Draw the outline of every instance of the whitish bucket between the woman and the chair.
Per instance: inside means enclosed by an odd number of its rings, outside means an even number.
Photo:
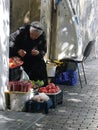
[[[47,64],[47,75],[48,77],[55,77],[56,65],[55,64]]]

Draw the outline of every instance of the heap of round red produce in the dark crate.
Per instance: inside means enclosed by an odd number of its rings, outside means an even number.
[[[41,87],[38,90],[39,92],[44,93],[57,93],[60,91],[59,86],[55,85],[54,83],[49,83],[46,87]]]

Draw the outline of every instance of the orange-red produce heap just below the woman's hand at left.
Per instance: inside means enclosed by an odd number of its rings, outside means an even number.
[[[9,58],[9,68],[10,69],[21,66],[22,64],[23,64],[23,61],[19,57]]]

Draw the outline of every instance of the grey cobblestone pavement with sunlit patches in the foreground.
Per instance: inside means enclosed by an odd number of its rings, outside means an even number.
[[[42,113],[0,112],[0,130],[98,130],[98,59],[85,64],[88,84],[60,86],[63,103]]]

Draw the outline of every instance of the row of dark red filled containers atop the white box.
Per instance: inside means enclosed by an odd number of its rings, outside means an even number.
[[[9,91],[19,91],[19,92],[28,92],[32,88],[31,81],[10,81],[9,82]]]

